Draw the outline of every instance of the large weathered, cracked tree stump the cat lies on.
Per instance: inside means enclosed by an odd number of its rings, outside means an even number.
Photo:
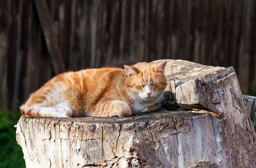
[[[26,166],[255,167],[256,134],[234,68],[167,61],[165,103],[183,109],[120,118],[21,117],[16,139]]]

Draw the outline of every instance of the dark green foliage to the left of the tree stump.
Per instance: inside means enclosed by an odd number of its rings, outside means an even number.
[[[13,115],[8,110],[0,111],[0,168],[25,167],[22,149],[16,142],[16,128],[21,114]]]

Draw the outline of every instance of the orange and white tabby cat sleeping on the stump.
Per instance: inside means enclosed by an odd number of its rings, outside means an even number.
[[[160,108],[166,61],[59,74],[22,105],[25,117],[129,116]]]

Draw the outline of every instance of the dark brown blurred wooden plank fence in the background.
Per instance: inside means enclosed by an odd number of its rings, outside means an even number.
[[[233,66],[243,94],[256,83],[255,0],[36,2],[0,1],[0,109],[17,110],[54,67],[185,59]]]

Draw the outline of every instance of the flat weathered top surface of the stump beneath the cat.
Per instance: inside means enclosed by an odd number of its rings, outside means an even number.
[[[25,120],[29,119],[43,119],[43,120],[52,120],[55,122],[85,122],[85,123],[106,123],[106,124],[115,124],[115,123],[134,123],[134,122],[143,122],[147,120],[161,120],[161,119],[172,119],[172,118],[183,118],[191,119],[192,116],[199,115],[208,115],[203,113],[193,113],[189,111],[155,111],[150,113],[140,113],[133,114],[132,116],[126,117],[95,117],[95,116],[83,116],[83,117],[74,117],[74,118],[24,118]]]

